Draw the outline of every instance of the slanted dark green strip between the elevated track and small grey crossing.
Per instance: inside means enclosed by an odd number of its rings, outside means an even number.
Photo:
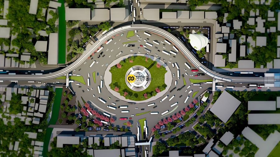
[[[62,95],[62,88],[55,88],[54,105],[52,109],[52,117],[49,120],[49,124],[55,124],[58,119],[61,95]]]

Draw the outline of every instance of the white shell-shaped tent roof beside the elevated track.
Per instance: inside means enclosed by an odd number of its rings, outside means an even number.
[[[189,34],[190,44],[195,50],[199,51],[209,42],[209,39],[203,34]]]

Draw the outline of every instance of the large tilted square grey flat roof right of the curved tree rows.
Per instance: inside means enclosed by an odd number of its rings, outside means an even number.
[[[241,102],[230,93],[223,91],[210,111],[226,123],[240,103]]]

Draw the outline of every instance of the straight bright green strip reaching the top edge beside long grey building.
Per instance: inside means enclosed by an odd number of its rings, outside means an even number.
[[[66,58],[66,21],[64,0],[58,0],[61,7],[58,7],[58,64],[65,64]]]

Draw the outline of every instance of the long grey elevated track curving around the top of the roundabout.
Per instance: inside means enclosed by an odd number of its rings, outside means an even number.
[[[212,78],[216,78],[219,80],[227,81],[227,82],[235,82],[235,83],[274,83],[276,81],[274,77],[232,77],[232,76],[226,76],[223,74],[216,73],[207,67],[205,67],[203,64],[201,64],[196,57],[193,55],[192,52],[190,52],[187,47],[183,43],[180,42],[179,39],[177,39],[174,35],[168,33],[167,31],[154,27],[151,25],[128,25],[123,26],[114,30],[111,30],[104,34],[99,40],[96,41],[90,48],[86,49],[83,54],[74,61],[71,65],[65,67],[62,70],[58,70],[51,74],[43,74],[43,75],[0,75],[0,80],[29,80],[29,81],[36,81],[36,80],[47,80],[47,79],[53,79],[57,78],[59,76],[62,76],[64,74],[67,74],[74,69],[76,69],[80,64],[83,64],[84,61],[90,56],[93,52],[95,52],[97,49],[99,49],[101,46],[104,45],[104,42],[111,39],[113,36],[120,34],[124,31],[129,30],[144,30],[149,31],[153,34],[162,36],[163,38],[166,38],[168,41],[170,41],[173,45],[175,45],[180,52],[184,54],[187,60],[196,67],[197,69],[203,71],[203,73],[211,76]],[[142,34],[141,34],[142,35]],[[142,36],[145,36],[144,34]]]

